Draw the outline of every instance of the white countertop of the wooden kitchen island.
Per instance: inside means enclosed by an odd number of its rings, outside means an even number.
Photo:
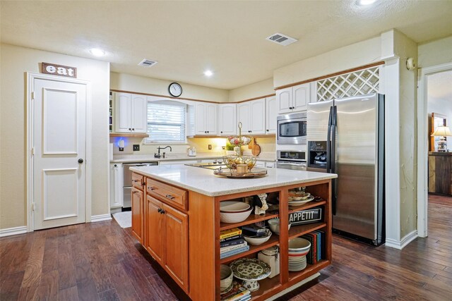
[[[285,185],[308,183],[316,180],[337,178],[334,173],[314,171],[293,171],[290,169],[268,168],[267,175],[261,178],[223,178],[215,176],[212,169],[185,166],[182,164],[142,166],[130,168],[164,183],[186,188],[202,195],[217,197],[233,193],[276,188]]]

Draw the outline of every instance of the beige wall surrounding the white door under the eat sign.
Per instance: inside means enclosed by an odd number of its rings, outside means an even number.
[[[1,44],[0,229],[26,225],[25,72],[40,73],[42,61],[77,68],[91,82],[93,113],[92,215],[108,214],[109,63]]]

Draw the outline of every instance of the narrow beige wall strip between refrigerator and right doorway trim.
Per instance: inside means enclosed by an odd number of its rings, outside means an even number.
[[[409,57],[417,61],[417,44],[394,31],[394,54],[400,57],[400,238],[404,238],[417,228],[417,73],[405,66]]]

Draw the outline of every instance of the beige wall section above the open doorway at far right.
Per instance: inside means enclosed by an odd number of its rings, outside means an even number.
[[[442,63],[452,62],[452,35],[444,39],[420,44],[419,52],[419,68],[440,65]]]

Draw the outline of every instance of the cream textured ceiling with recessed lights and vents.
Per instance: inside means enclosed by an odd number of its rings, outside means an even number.
[[[111,70],[233,89],[273,70],[396,28],[415,42],[452,35],[452,1],[4,1],[1,42],[93,58]],[[266,41],[281,32],[299,39]],[[142,59],[158,61],[152,68]],[[215,75],[206,78],[203,70]]]

